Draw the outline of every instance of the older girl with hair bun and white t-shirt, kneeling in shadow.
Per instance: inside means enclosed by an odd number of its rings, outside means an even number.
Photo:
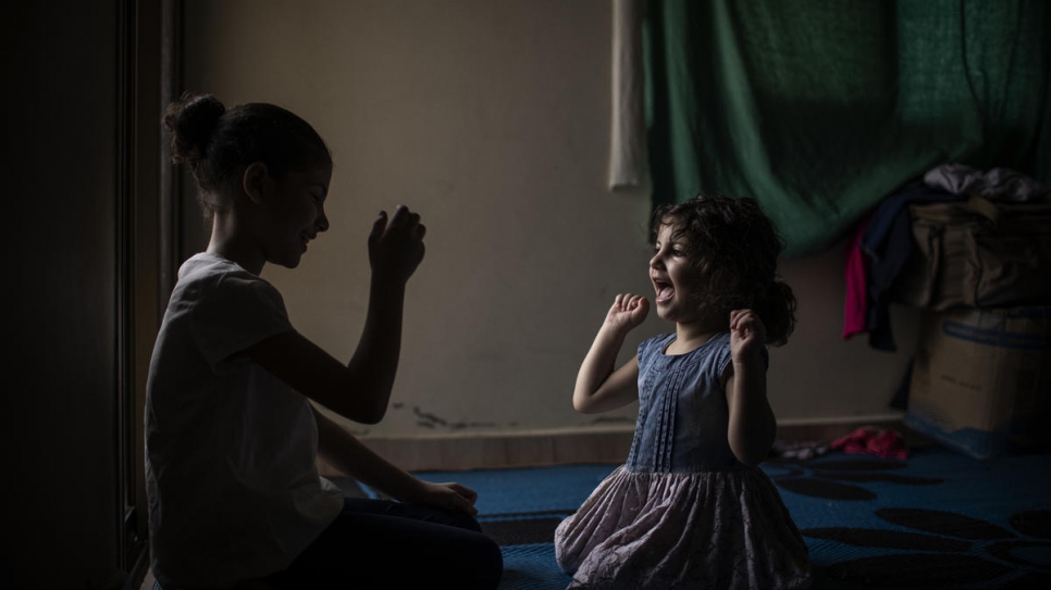
[[[499,548],[475,494],[421,481],[311,402],[374,424],[386,412],[406,281],[424,226],[398,206],[372,225],[369,309],[344,364],[292,327],[267,263],[294,268],[319,233],[332,159],[272,104],[184,97],[164,118],[211,218],[178,271],[147,384],[146,478],[153,575],[165,590],[495,588]],[[344,498],[318,453],[399,502]]]

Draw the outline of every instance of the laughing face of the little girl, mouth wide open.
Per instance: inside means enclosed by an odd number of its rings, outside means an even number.
[[[654,242],[654,255],[650,260],[650,280],[656,291],[654,301],[657,315],[677,323],[701,318],[701,288],[696,261],[691,259],[690,243],[684,236],[677,236],[675,223],[663,224]]]

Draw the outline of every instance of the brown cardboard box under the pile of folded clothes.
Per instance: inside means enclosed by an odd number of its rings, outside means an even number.
[[[1051,306],[924,310],[905,424],[975,459],[1047,450]]]

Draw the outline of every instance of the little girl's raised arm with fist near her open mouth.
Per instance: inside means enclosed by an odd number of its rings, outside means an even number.
[[[625,337],[642,324],[648,311],[650,304],[644,297],[630,293],[617,296],[577,373],[573,407],[578,412],[606,412],[639,399],[638,356],[632,356],[616,371],[614,364]]]

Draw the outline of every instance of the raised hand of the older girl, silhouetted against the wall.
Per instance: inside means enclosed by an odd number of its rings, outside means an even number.
[[[398,205],[387,219],[385,211],[372,224],[369,234],[369,264],[373,274],[405,283],[423,261],[423,236],[426,227],[420,215]]]

